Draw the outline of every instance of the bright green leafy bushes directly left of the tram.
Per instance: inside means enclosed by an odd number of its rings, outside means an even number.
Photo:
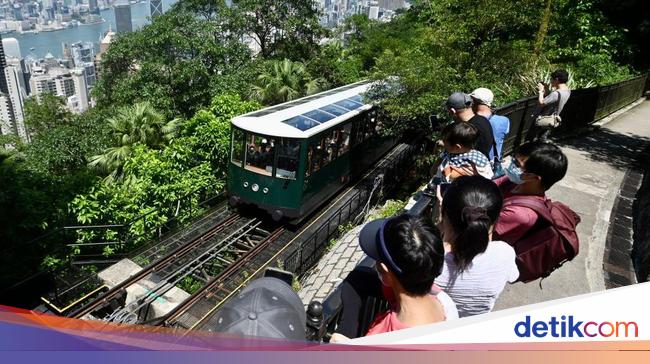
[[[70,209],[77,222],[133,222],[128,226],[128,243],[105,251],[110,255],[129,251],[147,241],[151,236],[146,232],[154,231],[173,217],[180,221],[190,218],[190,211],[196,214],[201,202],[198,195],[179,199],[197,190],[221,191],[230,145],[230,120],[257,108],[259,104],[242,101],[238,96],[220,95],[208,109],[200,110],[188,120],[180,135],[163,148],[133,144],[124,161],[123,181],[97,181],[89,192],[79,194],[71,202]],[[79,240],[115,239],[116,232],[104,234],[112,235],[82,233]]]

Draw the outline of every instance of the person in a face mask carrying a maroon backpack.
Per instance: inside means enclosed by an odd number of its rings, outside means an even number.
[[[529,207],[508,204],[514,197],[544,202],[545,192],[566,175],[568,160],[562,150],[551,143],[529,142],[514,153],[506,175],[494,180],[503,193],[504,205],[494,228],[495,236],[514,244],[535,224],[538,215]]]

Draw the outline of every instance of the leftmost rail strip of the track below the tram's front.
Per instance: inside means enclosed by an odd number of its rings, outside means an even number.
[[[123,298],[123,296],[126,295],[126,290],[128,287],[131,287],[138,282],[144,281],[145,279],[154,278],[152,277],[154,274],[157,275],[158,279],[155,280],[159,281],[159,283],[162,283],[163,281],[175,281],[178,279],[176,273],[183,270],[183,268],[187,268],[188,265],[196,263],[196,260],[203,256],[205,253],[210,254],[209,252],[213,250],[216,245],[214,244],[213,238],[218,237],[219,234],[223,236],[225,233],[228,236],[228,234],[233,234],[236,231],[245,229],[246,226],[249,226],[251,223],[253,223],[253,221],[255,221],[255,223],[259,223],[254,219],[245,219],[240,215],[233,213],[229,214],[228,217],[214,224],[212,227],[189,241],[186,240],[183,242],[181,239],[173,240],[175,243],[172,243],[173,245],[169,246],[166,254],[157,258],[155,261],[125,281],[119,283],[108,292],[102,294],[83,307],[72,311],[68,316],[73,318],[83,318],[91,313],[95,313],[94,316],[96,316],[96,311],[99,309],[105,308],[106,306],[115,306],[115,300]],[[147,253],[145,253],[145,255],[146,254]],[[155,258],[156,253],[149,252],[148,255],[150,255],[152,258]],[[190,269],[189,274],[193,273],[193,271],[194,270]],[[162,287],[158,287],[158,285],[156,285],[155,288],[156,291],[153,294],[148,294],[146,297],[156,297],[157,293],[160,293],[162,290],[164,290]],[[171,287],[165,288],[171,289]],[[109,311],[111,311],[111,309],[109,309]],[[107,317],[102,317],[102,315],[99,314],[100,317],[96,318],[107,319],[112,314],[113,312],[110,312]],[[125,316],[122,315],[120,317],[124,319]],[[132,315],[129,315],[129,317],[129,319],[132,319]]]

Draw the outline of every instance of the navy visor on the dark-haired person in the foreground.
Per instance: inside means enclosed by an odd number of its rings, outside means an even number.
[[[377,262],[388,266],[391,272],[400,275],[402,268],[393,260],[388,247],[386,246],[385,230],[392,223],[394,218],[378,219],[367,223],[359,233],[359,245],[366,255]]]

